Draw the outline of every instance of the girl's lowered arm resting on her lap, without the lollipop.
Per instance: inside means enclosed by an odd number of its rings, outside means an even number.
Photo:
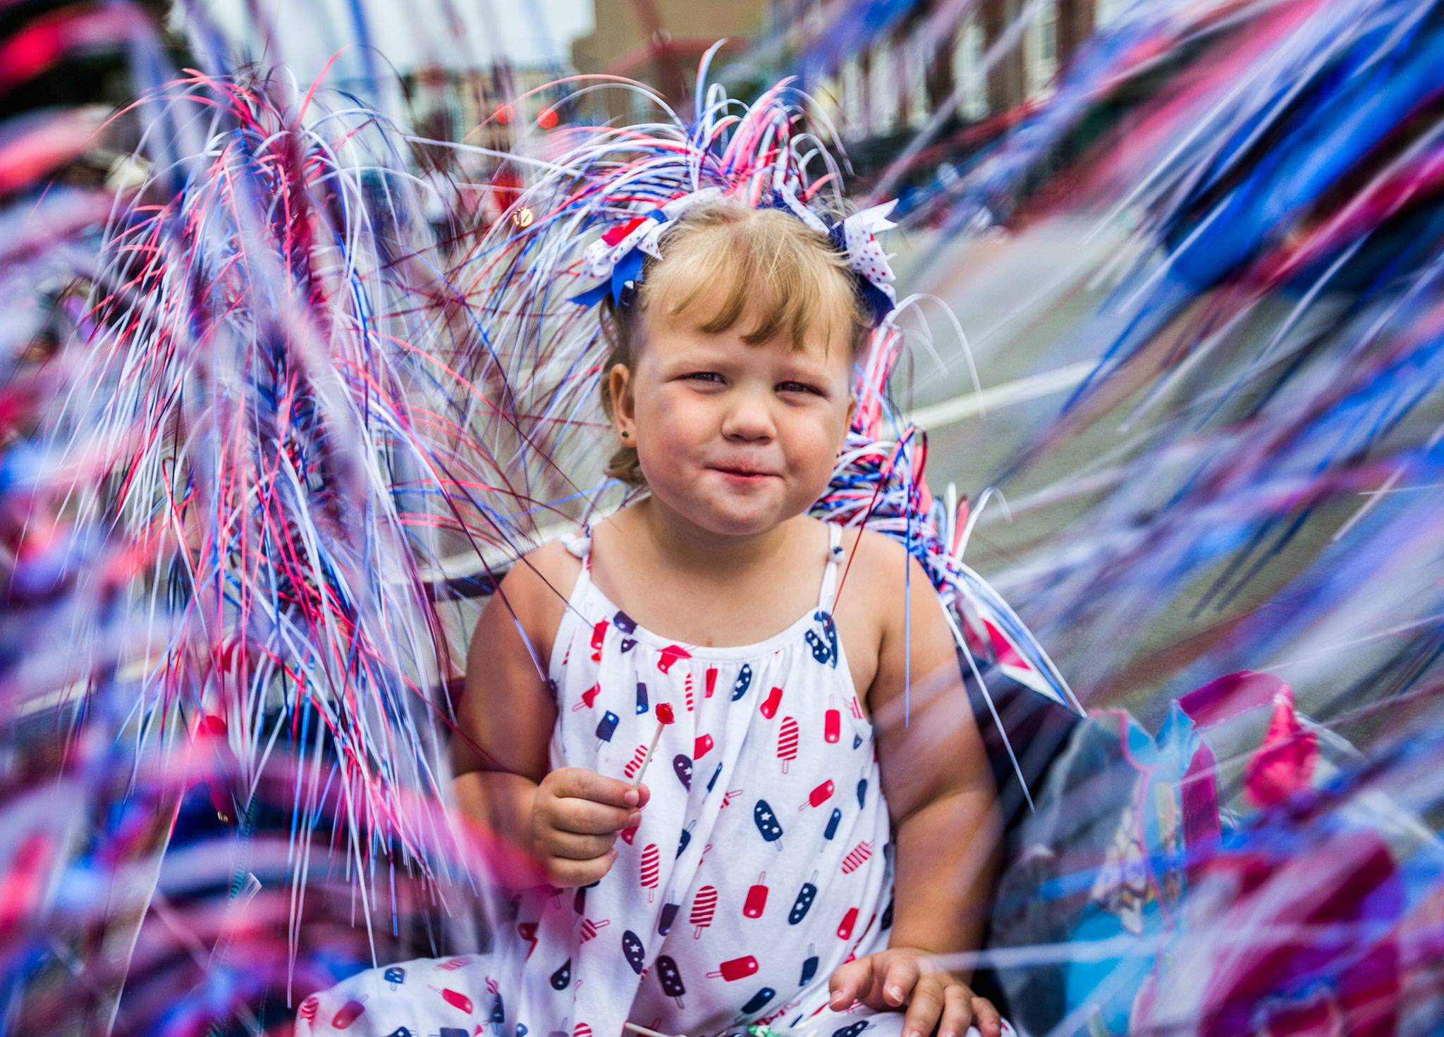
[[[988,754],[962,686],[956,643],[921,566],[908,559],[905,589],[900,544],[865,537],[859,549],[872,557],[853,575],[878,581],[864,585],[869,595],[877,586],[879,602],[901,602],[907,594],[911,604],[910,624],[904,609],[882,607],[878,672],[868,693],[892,815],[897,900],[888,950],[833,973],[833,1007],[907,1004],[904,1037],[927,1037],[934,1024],[939,1037],[962,1037],[969,1024],[993,1037],[999,1015],[972,994],[967,976],[927,963],[928,955],[976,949],[982,936],[1001,835]]]

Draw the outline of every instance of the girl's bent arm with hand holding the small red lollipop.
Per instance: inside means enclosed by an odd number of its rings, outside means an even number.
[[[452,738],[453,789],[466,817],[534,855],[553,885],[586,885],[611,868],[617,833],[638,820],[647,790],[579,767],[547,768],[556,702],[543,672],[565,609],[556,547],[513,566],[477,621]]]

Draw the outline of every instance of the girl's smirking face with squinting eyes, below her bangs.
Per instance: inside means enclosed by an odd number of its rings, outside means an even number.
[[[852,417],[852,355],[840,335],[809,331],[742,341],[754,321],[721,334],[692,313],[638,328],[631,370],[611,373],[617,432],[637,448],[651,493],[713,533],[761,533],[816,503]]]

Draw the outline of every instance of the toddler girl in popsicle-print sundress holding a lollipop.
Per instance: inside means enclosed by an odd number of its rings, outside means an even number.
[[[513,566],[472,638],[458,803],[544,882],[485,955],[360,973],[299,1033],[1011,1033],[930,965],[976,946],[998,836],[954,637],[898,542],[807,514],[885,260],[725,188],[589,251],[609,474],[645,493]]]

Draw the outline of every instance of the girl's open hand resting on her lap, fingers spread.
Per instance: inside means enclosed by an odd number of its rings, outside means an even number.
[[[926,950],[888,947],[838,968],[829,982],[830,1007],[843,1011],[861,1001],[874,1011],[907,1005],[902,1037],[963,1037],[969,1025],[999,1037],[1002,1017],[952,972],[931,965]]]

